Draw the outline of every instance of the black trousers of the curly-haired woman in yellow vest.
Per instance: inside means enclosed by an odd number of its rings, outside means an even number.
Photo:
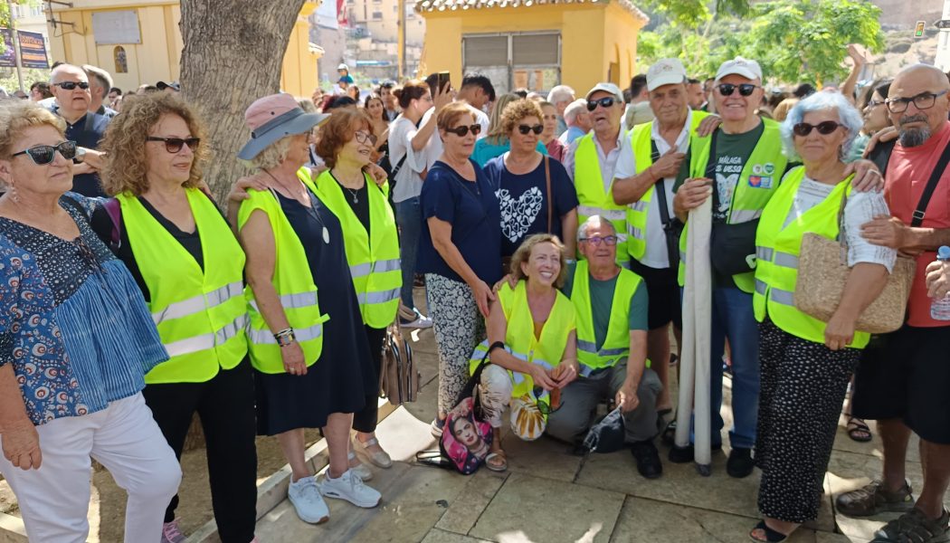
[[[205,382],[150,384],[142,391],[161,433],[181,458],[195,412],[207,444],[211,503],[222,543],[248,543],[257,524],[254,377],[248,359]],[[179,497],[165,510],[175,519]]]

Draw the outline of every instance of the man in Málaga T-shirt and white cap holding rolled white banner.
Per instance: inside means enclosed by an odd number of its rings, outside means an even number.
[[[733,477],[752,473],[759,397],[758,326],[752,311],[755,288],[755,229],[785,174],[779,124],[762,119],[755,109],[762,102],[762,68],[754,60],[736,57],[719,67],[712,102],[722,126],[707,137],[691,136],[689,179],[675,185],[674,211],[686,223],[680,237],[678,282],[685,284],[683,257],[689,236],[689,211],[712,195],[712,329],[710,402],[712,449],[721,447],[724,425],[722,359],[729,339],[732,368],[731,453],[726,471]],[[849,166],[858,190],[881,186],[880,172],[867,161]],[[875,175],[876,174],[876,175]],[[693,461],[693,446],[674,447],[670,461]]]

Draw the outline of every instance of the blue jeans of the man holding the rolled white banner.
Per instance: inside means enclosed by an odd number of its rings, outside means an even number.
[[[725,426],[719,410],[722,407],[722,356],[726,350],[726,338],[729,338],[732,361],[732,430],[729,442],[733,448],[751,449],[755,445],[759,412],[759,324],[752,311],[752,295],[735,287],[712,289],[710,422],[713,448],[721,445],[721,431]]]

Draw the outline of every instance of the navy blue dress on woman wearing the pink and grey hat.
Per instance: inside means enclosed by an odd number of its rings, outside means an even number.
[[[319,220],[297,201],[278,195],[280,207],[307,253],[323,324],[323,352],[307,375],[257,375],[257,433],[274,436],[296,428],[320,428],[332,413],[356,413],[368,397],[379,394],[369,341],[360,317],[356,291],[343,245],[339,220],[313,193]],[[321,223],[322,222],[322,223]],[[330,242],[323,241],[323,228]]]

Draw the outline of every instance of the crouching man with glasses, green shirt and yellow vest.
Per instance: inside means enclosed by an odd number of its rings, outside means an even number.
[[[653,443],[662,385],[646,359],[649,301],[640,277],[618,266],[617,239],[614,226],[598,215],[578,229],[585,260],[569,264],[561,290],[577,312],[580,377],[562,391],[561,409],[548,417],[547,434],[580,441],[598,403],[613,397],[623,412],[637,471],[656,478],[663,473]]]

